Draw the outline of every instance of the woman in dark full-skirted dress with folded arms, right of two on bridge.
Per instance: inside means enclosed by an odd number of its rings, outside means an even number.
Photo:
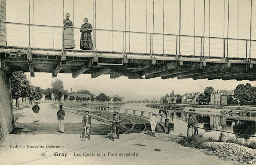
[[[80,32],[82,33],[81,39],[80,39],[80,49],[82,50],[91,50],[93,49],[93,44],[92,44],[92,38],[91,38],[91,32],[92,30],[91,24],[88,23],[88,19],[84,19],[84,24],[81,26]]]

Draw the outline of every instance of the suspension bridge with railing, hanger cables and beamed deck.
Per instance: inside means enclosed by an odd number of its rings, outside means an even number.
[[[146,1],[146,17],[148,17],[148,1]],[[194,7],[196,10],[196,3]],[[205,2],[209,6],[206,6]],[[150,1],[151,2],[151,1]],[[179,33],[165,33],[165,0],[163,5],[163,33],[154,32],[155,6],[159,5],[152,0],[152,31],[148,30],[146,18],[146,32],[127,30],[130,26],[131,1],[125,0],[125,29],[113,30],[113,0],[112,0],[112,28],[97,29],[97,0],[93,1],[93,32],[94,49],[90,51],[79,49],[65,49],[63,46],[63,27],[33,24],[33,11],[29,6],[29,24],[6,21],[6,6],[2,0],[1,5],[1,46],[0,67],[7,73],[15,71],[72,74],[76,78],[80,74],[91,74],[91,78],[100,75],[110,75],[110,78],[127,76],[128,78],[193,78],[194,80],[222,79],[222,80],[256,80],[256,40],[252,39],[252,0],[250,1],[250,38],[239,39],[239,2],[237,1],[237,38],[229,37],[230,0],[223,0],[223,37],[210,36],[210,0],[204,0],[203,9],[203,35],[196,36],[194,24],[193,35],[181,34],[181,21],[183,14],[182,3],[179,0]],[[31,2],[30,2],[31,3]],[[29,3],[29,4],[30,4]],[[235,3],[232,0],[232,3]],[[225,6],[226,4],[226,6]],[[53,4],[54,5],[54,4]],[[212,4],[214,5],[214,4]],[[218,4],[219,5],[219,4]],[[234,5],[233,5],[234,6]],[[64,13],[63,1],[63,15]],[[129,9],[129,21],[127,10]],[[208,13],[209,35],[205,35],[205,16]],[[199,9],[197,9],[199,10]],[[30,24],[30,13],[33,13],[33,22]],[[75,9],[73,10],[75,12]],[[159,12],[159,11],[158,11]],[[196,23],[194,11],[194,23]],[[226,15],[225,15],[226,14]],[[233,13],[234,14],[234,13]],[[214,15],[216,16],[216,15]],[[184,16],[183,16],[184,17]],[[226,36],[225,34],[226,26]],[[80,28],[73,27],[76,43],[79,43]],[[234,28],[232,28],[234,30]],[[12,35],[9,35],[12,34]],[[8,42],[7,42],[8,41]],[[77,44],[78,45],[78,44]],[[78,47],[78,46],[77,46]],[[143,77],[145,76],[145,77]]]

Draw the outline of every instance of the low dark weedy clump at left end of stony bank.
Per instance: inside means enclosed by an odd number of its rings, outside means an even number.
[[[206,147],[206,144],[205,144],[206,141],[207,141],[207,138],[204,138],[203,134],[200,134],[200,135],[192,135],[190,137],[185,137],[183,139],[180,139],[178,143],[185,147],[204,149]]]

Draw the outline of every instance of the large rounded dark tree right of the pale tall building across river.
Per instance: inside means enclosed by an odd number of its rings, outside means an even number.
[[[251,90],[252,90],[252,87],[249,83],[247,83],[246,85],[239,84],[235,88],[234,90],[235,98],[239,100],[240,106],[243,106],[243,102],[251,101],[253,99],[253,97],[251,96],[252,94]]]

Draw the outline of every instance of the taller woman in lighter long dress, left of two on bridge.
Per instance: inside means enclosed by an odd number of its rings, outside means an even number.
[[[76,47],[74,39],[73,23],[69,20],[69,13],[66,14],[66,18],[63,21],[64,24],[64,48],[73,49]]]

